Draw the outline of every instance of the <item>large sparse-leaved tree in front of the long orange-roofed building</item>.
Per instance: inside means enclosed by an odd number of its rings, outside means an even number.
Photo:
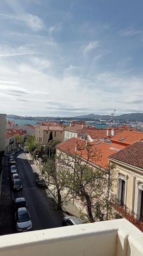
[[[78,205],[87,209],[86,216],[90,222],[107,220],[110,214],[109,191],[114,182],[113,167],[109,166],[107,170],[94,167],[91,162],[93,159],[96,162],[98,158],[101,158],[101,152],[91,144],[82,146],[74,154],[69,149],[56,155],[55,174],[63,175],[61,179],[64,179],[60,180],[60,184],[63,184],[68,198],[75,199]]]

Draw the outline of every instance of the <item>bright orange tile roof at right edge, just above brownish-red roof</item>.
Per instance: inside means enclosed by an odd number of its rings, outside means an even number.
[[[122,145],[130,145],[142,139],[143,139],[143,133],[141,132],[123,131],[118,135],[112,137],[111,142],[122,144]]]

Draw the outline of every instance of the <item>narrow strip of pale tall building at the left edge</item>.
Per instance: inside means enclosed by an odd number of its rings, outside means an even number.
[[[0,153],[5,151],[6,114],[0,114]]]

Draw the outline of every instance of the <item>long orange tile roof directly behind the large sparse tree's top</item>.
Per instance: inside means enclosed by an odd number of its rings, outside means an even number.
[[[75,145],[77,142],[77,152],[75,152]],[[64,142],[61,142],[56,146],[59,150],[69,152],[71,154],[79,154],[84,159],[88,159],[87,150],[85,150],[85,140],[78,138],[71,138]],[[114,143],[108,144],[102,141],[94,141],[88,142],[91,145],[91,157],[89,159],[90,162],[101,166],[103,168],[107,168],[108,166],[108,157],[113,153],[117,153],[119,150],[124,148],[125,146],[117,145]]]

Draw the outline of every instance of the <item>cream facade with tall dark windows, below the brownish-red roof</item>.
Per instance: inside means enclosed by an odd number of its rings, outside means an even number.
[[[117,184],[113,187],[113,194],[117,196],[118,204],[124,209],[127,208],[129,213],[133,211],[135,219],[141,220],[143,225],[143,168],[131,166],[115,159],[110,159],[110,163],[116,165]],[[122,210],[122,207],[119,208],[121,216],[124,214]]]

